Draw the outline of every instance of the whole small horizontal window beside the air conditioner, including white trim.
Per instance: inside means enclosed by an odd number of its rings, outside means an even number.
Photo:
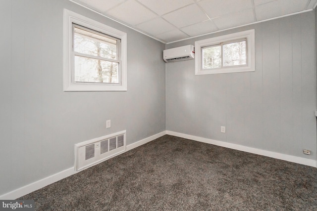
[[[195,42],[195,74],[255,71],[254,30]]]

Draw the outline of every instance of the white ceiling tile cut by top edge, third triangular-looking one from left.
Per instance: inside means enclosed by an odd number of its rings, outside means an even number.
[[[202,0],[199,4],[210,18],[252,8],[251,0]]]

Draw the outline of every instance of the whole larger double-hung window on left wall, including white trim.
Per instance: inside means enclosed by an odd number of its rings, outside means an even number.
[[[64,91],[126,90],[126,33],[64,9]]]

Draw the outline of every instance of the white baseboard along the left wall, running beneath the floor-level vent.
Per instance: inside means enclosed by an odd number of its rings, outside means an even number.
[[[150,136],[148,138],[145,138],[145,139],[142,139],[142,140],[137,141],[135,143],[129,144],[129,145],[126,146],[126,150],[124,152],[122,152],[122,153],[125,153],[125,152],[127,152],[127,151],[129,151],[131,149],[134,149],[134,148],[139,147],[139,146],[141,146],[141,145],[143,145],[145,143],[153,141],[153,140],[155,140],[155,139],[157,139],[157,138],[159,138],[159,137],[161,137],[161,136],[163,136],[165,134],[166,134],[166,131],[162,131],[162,132],[159,132],[159,133],[157,133],[155,135],[152,135],[152,136]],[[119,154],[122,154],[122,153],[119,153]],[[117,156],[119,154],[116,154],[115,156]],[[110,159],[110,158],[108,158],[108,159]],[[17,199],[17,198],[19,198],[21,196],[29,194],[29,193],[31,193],[33,191],[36,191],[36,190],[38,190],[40,188],[43,188],[43,187],[45,187],[47,185],[50,185],[50,184],[52,184],[54,182],[57,182],[58,180],[61,180],[63,178],[66,178],[66,177],[68,177],[68,176],[70,176],[72,174],[78,173],[78,172],[79,171],[75,171],[74,170],[74,167],[71,167],[71,168],[66,169],[66,170],[62,170],[62,171],[60,171],[58,173],[55,173],[55,174],[53,174],[51,176],[45,177],[45,178],[40,179],[40,180],[38,180],[36,182],[33,182],[31,184],[25,185],[23,187],[15,189],[15,190],[13,190],[11,192],[5,193],[5,194],[0,196],[0,200]]]

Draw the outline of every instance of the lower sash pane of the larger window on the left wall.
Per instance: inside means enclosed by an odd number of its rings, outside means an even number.
[[[75,82],[119,83],[119,64],[82,56],[75,56]]]

